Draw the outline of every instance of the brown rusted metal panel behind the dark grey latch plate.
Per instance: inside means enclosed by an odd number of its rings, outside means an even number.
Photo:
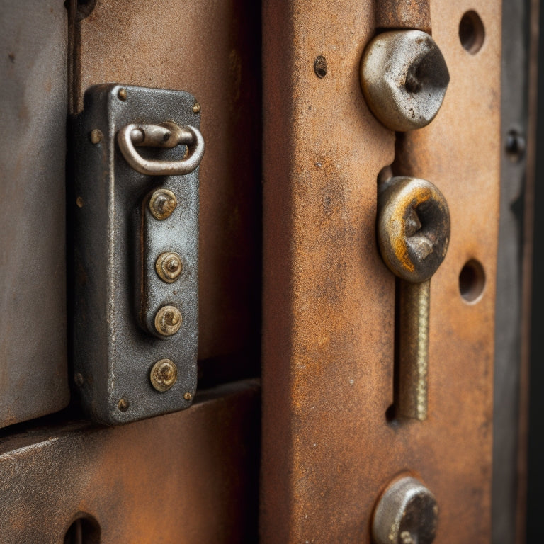
[[[206,142],[200,166],[200,359],[258,348],[259,11],[252,0],[98,0],[81,21],[72,18],[72,113],[81,110],[85,89],[108,81],[185,89],[198,100],[193,111],[201,108]]]

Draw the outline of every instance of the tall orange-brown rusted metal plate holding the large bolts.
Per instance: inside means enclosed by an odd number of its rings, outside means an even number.
[[[468,8],[486,28],[475,55],[459,39]],[[501,6],[433,2],[448,93],[433,122],[396,148],[407,159],[394,173],[435,183],[452,225],[431,282],[429,417],[413,423],[385,415],[395,278],[375,239],[376,179],[393,162],[395,134],[368,111],[358,84],[373,6],[353,1],[329,13],[325,1],[263,10],[261,540],[368,543],[375,502],[409,471],[440,505],[436,542],[488,543]],[[322,79],[317,55],[327,60]],[[470,259],[486,278],[472,304],[459,289]]]

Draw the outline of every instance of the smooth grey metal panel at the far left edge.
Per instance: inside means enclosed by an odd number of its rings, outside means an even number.
[[[55,412],[66,369],[67,21],[60,1],[0,11],[0,426]]]

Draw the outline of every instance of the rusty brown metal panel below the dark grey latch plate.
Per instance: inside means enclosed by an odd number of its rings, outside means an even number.
[[[98,522],[101,544],[255,542],[258,459],[251,381],[123,428],[72,424],[4,438],[0,541],[62,544],[84,516]]]

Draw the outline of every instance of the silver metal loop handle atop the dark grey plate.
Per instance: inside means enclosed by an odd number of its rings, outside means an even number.
[[[174,145],[187,145],[186,158],[181,159],[181,161],[153,161],[144,159],[136,151],[135,144],[174,147],[173,145],[162,145],[158,141],[152,141],[156,135],[163,137],[164,142],[171,141],[171,137],[167,133],[174,127],[179,129],[176,131],[178,137]],[[190,137],[188,137],[189,135]],[[126,162],[140,174],[147,174],[148,176],[183,176],[190,174],[200,164],[204,154],[204,138],[200,134],[200,130],[191,125],[178,127],[174,123],[164,123],[163,125],[136,125],[131,123],[119,130],[117,141]]]

